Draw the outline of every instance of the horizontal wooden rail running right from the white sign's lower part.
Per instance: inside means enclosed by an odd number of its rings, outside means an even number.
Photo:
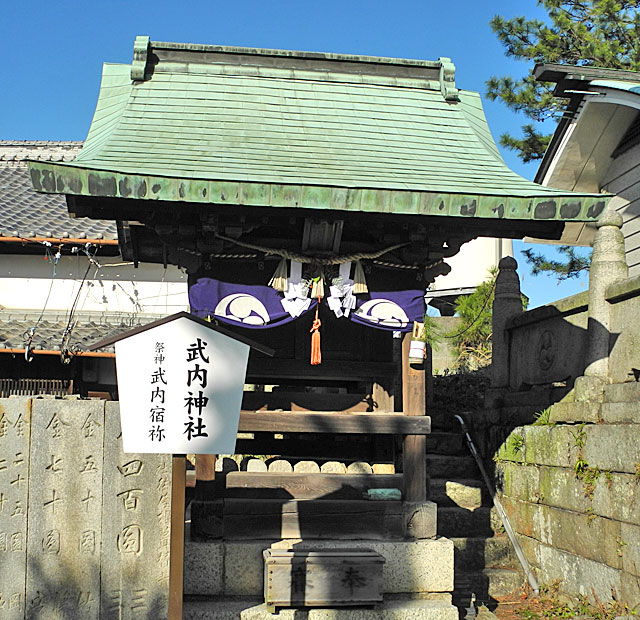
[[[428,435],[431,418],[391,413],[242,411],[238,431],[269,433],[356,433]]]

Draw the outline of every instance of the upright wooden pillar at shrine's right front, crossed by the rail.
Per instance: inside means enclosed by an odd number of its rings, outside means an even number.
[[[402,340],[402,410],[404,415],[426,415],[425,364],[409,363],[411,334]],[[407,435],[403,443],[404,499],[424,502],[427,499],[427,438]]]

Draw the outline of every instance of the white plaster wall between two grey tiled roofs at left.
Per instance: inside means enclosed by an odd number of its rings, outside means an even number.
[[[187,275],[169,266],[136,269],[120,258],[97,258],[78,297],[78,311],[172,314],[187,310]],[[42,256],[0,257],[0,306],[40,311],[69,310],[89,265],[85,255],[63,256],[53,266]],[[48,300],[47,300],[48,296]]]

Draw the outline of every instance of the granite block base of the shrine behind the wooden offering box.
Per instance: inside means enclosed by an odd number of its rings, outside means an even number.
[[[453,591],[453,542],[447,538],[416,541],[287,540],[194,543],[185,542],[186,596],[241,596],[262,599],[262,552],[303,544],[312,549],[368,548],[385,558],[382,592],[386,594]],[[186,617],[186,616],[185,616]],[[319,616],[320,617],[320,616]]]

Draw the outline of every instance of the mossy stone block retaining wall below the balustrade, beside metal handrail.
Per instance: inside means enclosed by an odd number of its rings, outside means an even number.
[[[489,465],[539,581],[640,603],[640,384],[558,403],[534,424],[492,416]]]

